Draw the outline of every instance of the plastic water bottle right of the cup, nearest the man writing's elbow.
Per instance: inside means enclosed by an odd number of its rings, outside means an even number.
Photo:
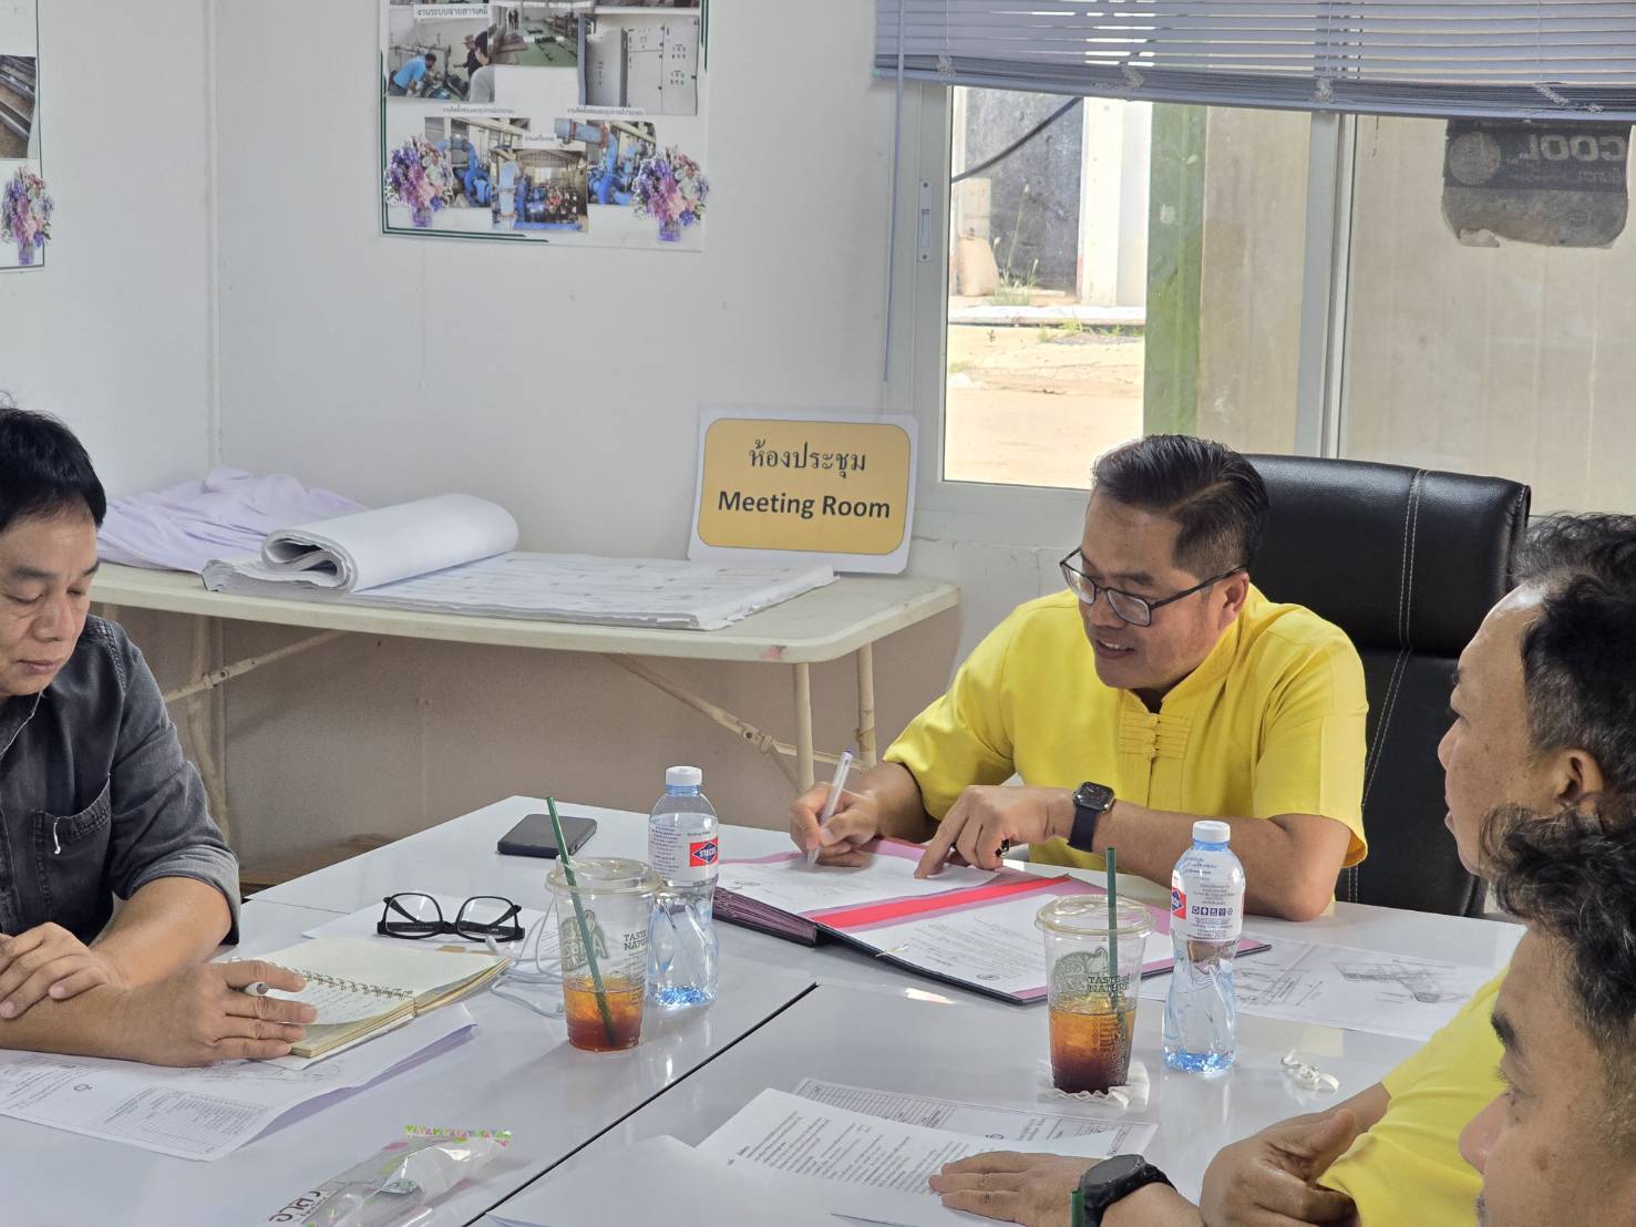
[[[1193,847],[1170,874],[1176,969],[1165,1001],[1165,1063],[1173,1070],[1220,1073],[1238,1052],[1232,957],[1243,929],[1243,865],[1230,838],[1227,823],[1194,823]]]

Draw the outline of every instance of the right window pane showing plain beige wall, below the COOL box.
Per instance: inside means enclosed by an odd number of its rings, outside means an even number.
[[[1358,121],[1342,455],[1636,510],[1628,133]]]

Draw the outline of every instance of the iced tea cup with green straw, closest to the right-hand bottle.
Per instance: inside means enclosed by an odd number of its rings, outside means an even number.
[[[1121,901],[1109,923],[1106,895],[1063,895],[1034,924],[1045,934],[1052,1083],[1070,1094],[1122,1086],[1153,918]]]

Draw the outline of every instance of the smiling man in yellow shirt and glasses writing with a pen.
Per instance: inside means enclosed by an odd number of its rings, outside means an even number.
[[[1238,453],[1153,435],[1103,456],[1065,592],[1014,610],[846,792],[790,807],[798,847],[857,864],[877,834],[985,869],[1119,867],[1153,882],[1224,818],[1245,906],[1309,919],[1363,859],[1363,664],[1346,635],[1250,584],[1266,489]],[[1003,787],[1013,774],[1024,787]]]

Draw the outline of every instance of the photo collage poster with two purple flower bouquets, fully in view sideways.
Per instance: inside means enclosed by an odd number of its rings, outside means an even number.
[[[707,65],[708,0],[381,0],[381,226],[702,250]]]

